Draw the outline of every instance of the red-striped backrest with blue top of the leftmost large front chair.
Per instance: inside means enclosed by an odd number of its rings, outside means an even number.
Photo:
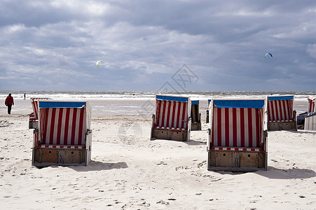
[[[87,102],[39,101],[41,144],[85,145]]]

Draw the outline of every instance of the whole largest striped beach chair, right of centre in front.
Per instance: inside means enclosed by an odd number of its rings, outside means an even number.
[[[209,114],[207,169],[267,170],[265,99],[212,99]]]

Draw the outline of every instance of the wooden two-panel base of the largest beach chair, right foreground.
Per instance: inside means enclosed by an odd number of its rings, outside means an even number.
[[[266,170],[267,154],[262,151],[209,151],[207,169],[229,172]]]

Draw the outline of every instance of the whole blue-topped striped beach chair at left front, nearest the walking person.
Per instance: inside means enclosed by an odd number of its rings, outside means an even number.
[[[88,165],[92,141],[90,118],[88,102],[39,100],[32,165]]]

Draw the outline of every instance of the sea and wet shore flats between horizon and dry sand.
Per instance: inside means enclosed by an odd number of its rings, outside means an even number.
[[[157,92],[157,91],[29,91],[29,90],[0,90],[0,99],[4,102],[8,93],[11,93],[15,106],[13,113],[25,113],[32,111],[32,104],[26,103],[30,98],[49,98],[69,101],[88,101],[92,107],[92,116],[146,116],[151,118],[155,111],[156,94],[172,94],[190,97],[191,100],[200,101],[200,112],[205,118],[207,100],[216,98],[262,98],[268,95],[294,95],[294,100],[302,101],[294,107],[298,113],[307,110],[308,96],[316,96],[316,91],[186,91],[186,92]],[[24,97],[25,100],[24,100]],[[0,106],[5,113],[5,106]],[[0,109],[0,110],[1,110]]]

